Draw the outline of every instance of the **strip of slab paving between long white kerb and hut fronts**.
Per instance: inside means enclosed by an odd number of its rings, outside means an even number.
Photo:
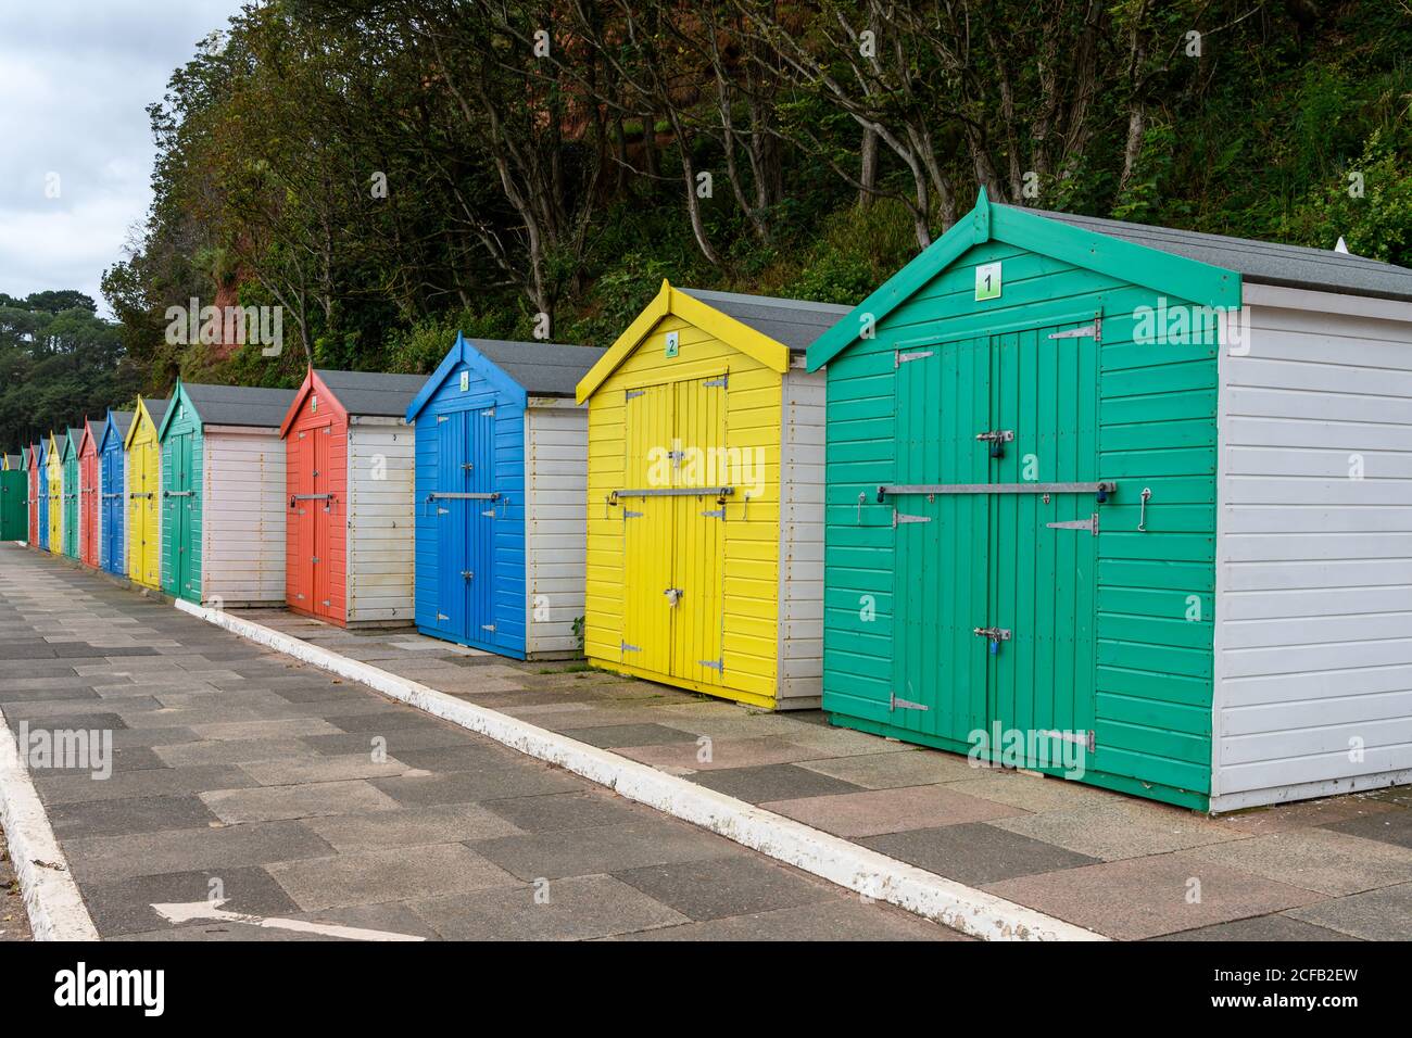
[[[1412,938],[1412,788],[1217,819],[411,630],[257,623],[1118,939]],[[702,758],[707,740],[709,760]]]

